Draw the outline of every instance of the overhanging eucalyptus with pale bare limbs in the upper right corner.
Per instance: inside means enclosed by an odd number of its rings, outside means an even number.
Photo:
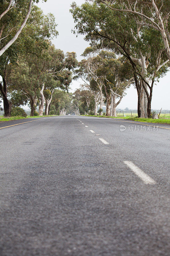
[[[168,0],[101,0],[111,10],[130,13],[137,25],[146,26],[161,34],[166,56],[170,61],[170,3]]]

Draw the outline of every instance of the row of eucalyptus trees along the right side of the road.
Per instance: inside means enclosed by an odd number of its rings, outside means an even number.
[[[91,46],[78,75],[92,90],[96,106],[102,106],[103,94],[106,114],[115,115],[125,90],[134,84],[138,117],[150,117],[153,86],[170,63],[169,1],[91,0],[71,7],[73,32],[85,35]]]

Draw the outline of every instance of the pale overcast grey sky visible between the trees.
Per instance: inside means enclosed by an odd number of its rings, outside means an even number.
[[[84,0],[74,0],[78,5],[84,3]],[[81,60],[81,54],[84,52],[88,43],[83,40],[84,36],[73,35],[71,29],[74,28],[74,21],[70,10],[70,4],[73,0],[48,0],[46,3],[39,3],[43,12],[46,14],[51,12],[55,15],[56,23],[58,24],[59,36],[54,39],[53,43],[56,48],[60,48],[64,52],[76,52],[78,60]],[[79,87],[77,81],[73,81],[71,88],[72,92]],[[152,108],[154,109],[170,109],[170,71],[165,77],[161,78],[157,85],[154,85],[152,96]],[[127,95],[122,99],[119,108],[137,108],[137,91],[131,86],[127,90]]]

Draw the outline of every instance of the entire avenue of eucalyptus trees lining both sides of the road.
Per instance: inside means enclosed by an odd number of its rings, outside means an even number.
[[[28,104],[31,116],[94,113],[116,116],[116,107],[133,85],[138,117],[151,117],[152,91],[170,67],[169,1],[90,0],[71,5],[74,33],[89,47],[80,62],[75,52],[56,49],[53,14],[39,0],[0,1],[0,97],[4,115]],[[44,0],[46,2],[46,0]],[[73,76],[74,75],[74,76]],[[80,88],[73,94],[73,79]],[[160,88],[161,90],[161,88]],[[132,99],[133,100],[133,99]],[[13,111],[15,112],[15,111]]]

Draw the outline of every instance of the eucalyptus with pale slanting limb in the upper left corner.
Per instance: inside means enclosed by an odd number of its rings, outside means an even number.
[[[0,1],[0,56],[21,34],[35,2],[38,3],[39,0]]]

